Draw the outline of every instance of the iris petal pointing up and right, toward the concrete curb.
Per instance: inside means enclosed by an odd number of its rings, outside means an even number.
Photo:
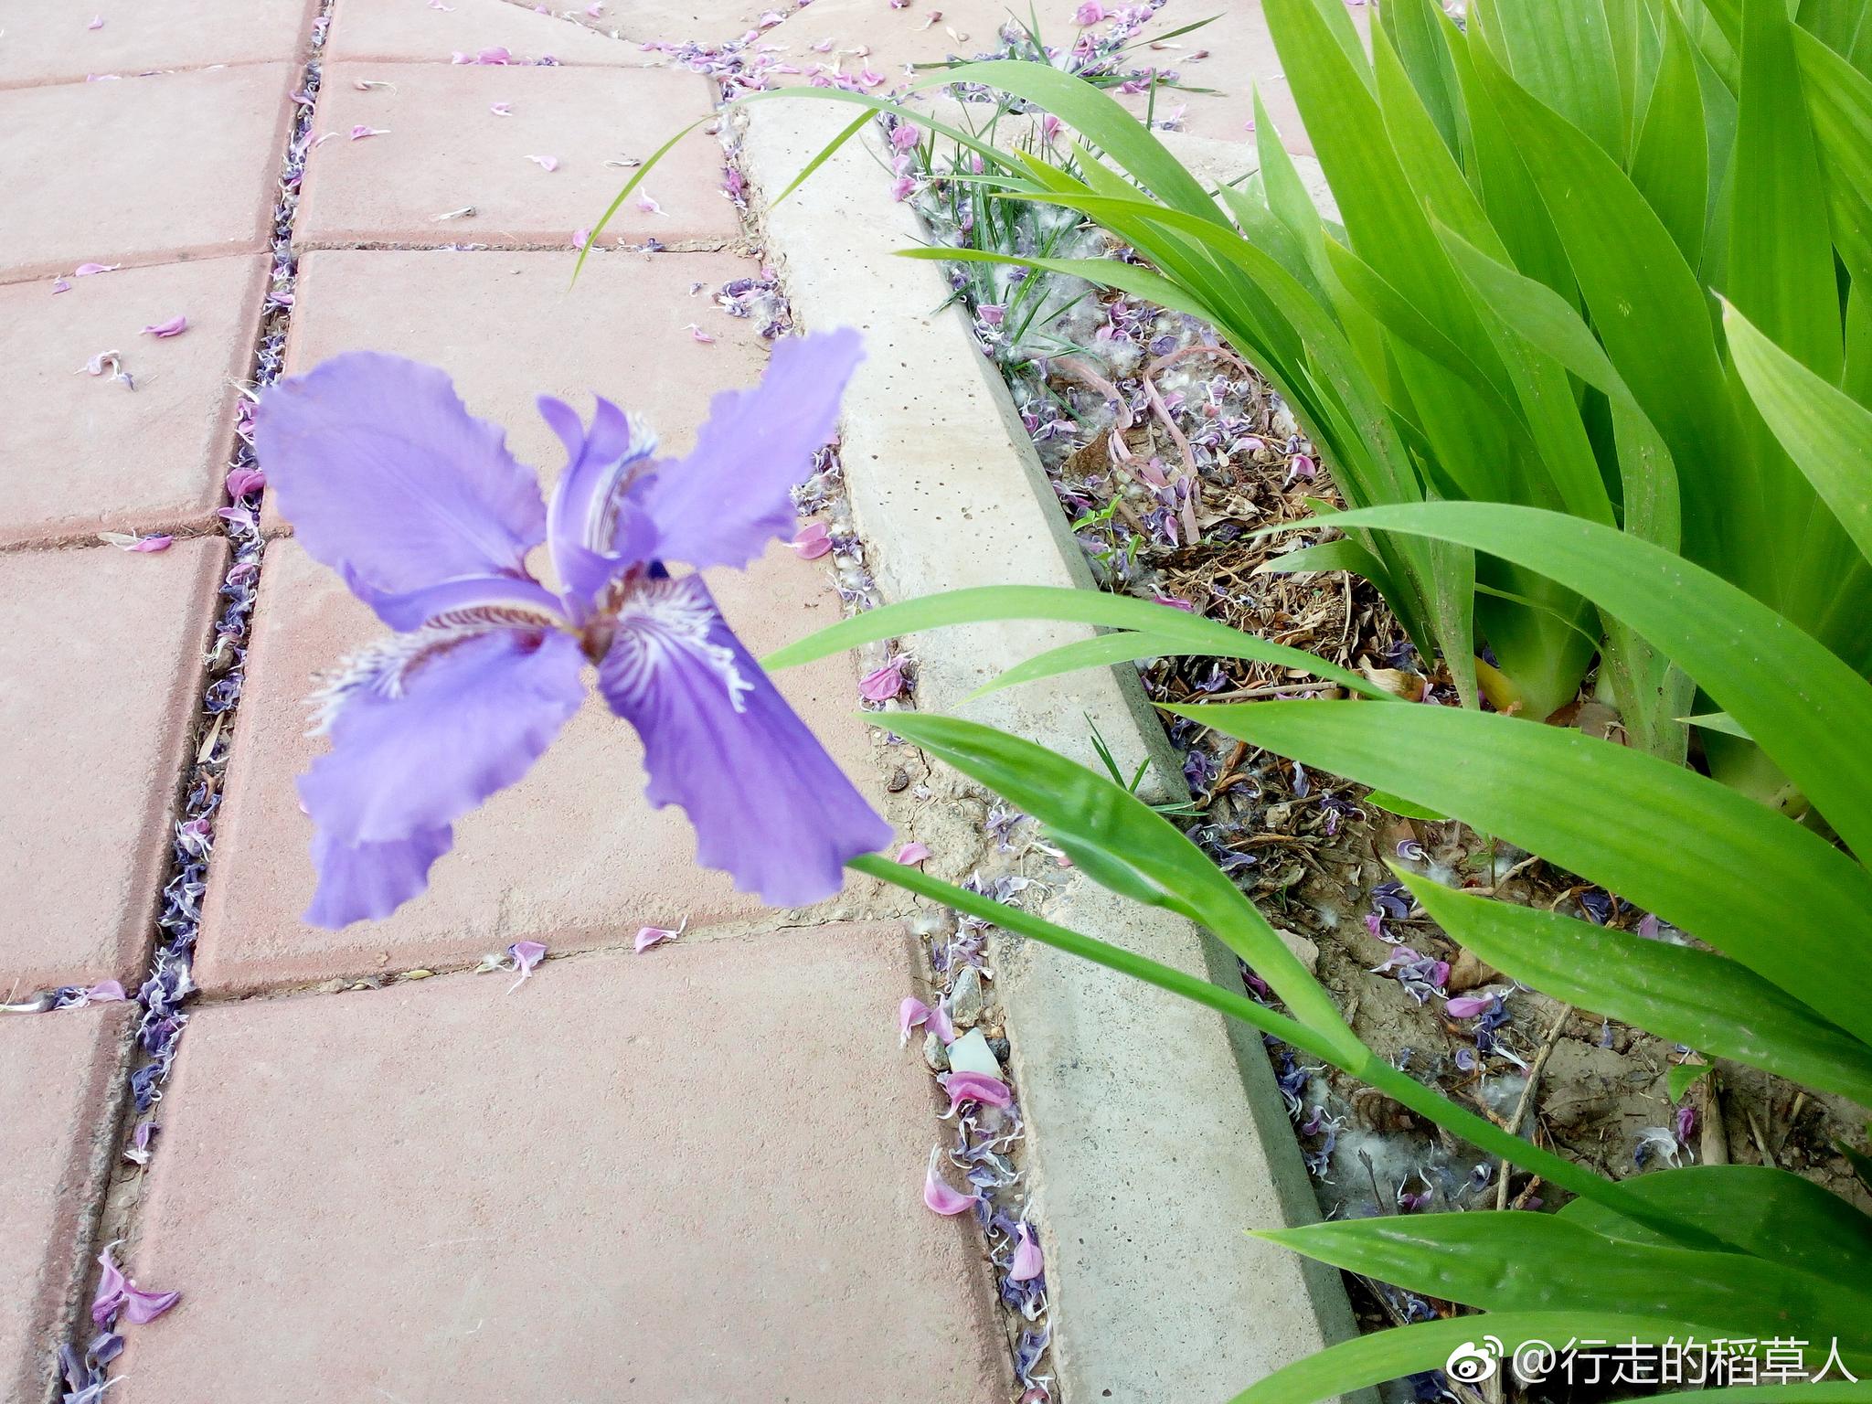
[[[786,337],[758,386],[717,395],[695,453],[657,464],[644,490],[657,558],[739,569],[792,535],[790,489],[839,427],[839,397],[863,356],[850,328]]]

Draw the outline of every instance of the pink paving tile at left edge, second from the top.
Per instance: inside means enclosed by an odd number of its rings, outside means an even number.
[[[288,64],[0,92],[0,283],[266,245]]]

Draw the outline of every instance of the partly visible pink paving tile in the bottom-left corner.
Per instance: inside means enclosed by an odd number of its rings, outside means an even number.
[[[127,1022],[125,1005],[0,1015],[0,1398],[17,1404],[47,1397],[84,1284]]]

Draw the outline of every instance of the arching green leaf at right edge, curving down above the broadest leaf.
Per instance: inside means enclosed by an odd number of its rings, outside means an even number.
[[[1872,854],[1872,685],[1752,595],[1631,535],[1531,507],[1400,504],[1333,524],[1456,541],[1586,595],[1690,674],[1855,854]]]

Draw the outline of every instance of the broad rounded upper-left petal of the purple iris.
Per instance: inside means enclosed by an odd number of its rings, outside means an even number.
[[[534,474],[447,374],[348,352],[268,389],[255,447],[313,560],[389,593],[520,575],[547,534]]]

